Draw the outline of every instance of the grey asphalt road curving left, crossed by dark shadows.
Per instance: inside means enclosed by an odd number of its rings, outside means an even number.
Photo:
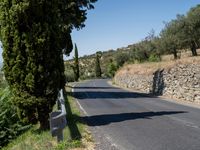
[[[200,150],[200,109],[116,88],[107,81],[74,87],[97,149]]]

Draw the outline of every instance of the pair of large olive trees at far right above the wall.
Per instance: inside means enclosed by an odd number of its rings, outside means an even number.
[[[178,49],[190,49],[192,56],[197,56],[200,47],[200,5],[193,7],[184,15],[177,15],[175,20],[166,24],[161,32],[161,39],[167,51],[177,59]]]

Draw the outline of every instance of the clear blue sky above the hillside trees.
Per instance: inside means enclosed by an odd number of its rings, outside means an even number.
[[[159,34],[164,22],[197,4],[200,0],[98,0],[95,9],[88,11],[86,27],[73,30],[72,40],[79,56],[126,47],[144,39],[152,29]],[[1,53],[0,48],[0,62]]]

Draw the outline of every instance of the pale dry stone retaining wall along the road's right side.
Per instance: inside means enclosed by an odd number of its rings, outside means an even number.
[[[120,86],[200,104],[200,64],[180,64],[152,74],[117,73]]]

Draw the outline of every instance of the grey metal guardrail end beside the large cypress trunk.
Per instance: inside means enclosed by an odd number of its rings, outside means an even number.
[[[57,136],[57,141],[63,141],[63,129],[67,125],[65,100],[61,89],[57,99],[58,110],[50,113],[51,135]]]

